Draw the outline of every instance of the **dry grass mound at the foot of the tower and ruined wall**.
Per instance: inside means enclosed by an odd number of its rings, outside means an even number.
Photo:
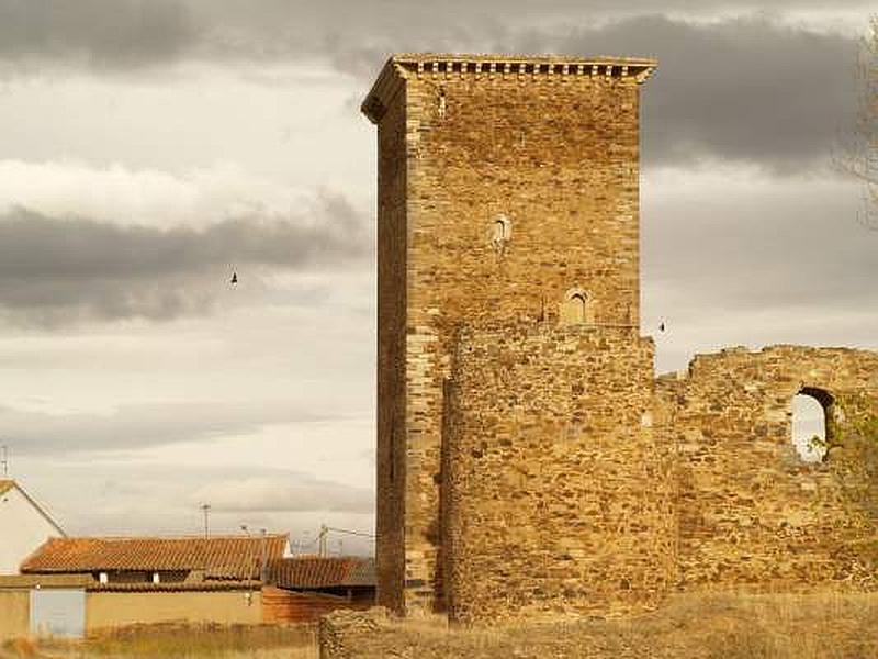
[[[357,659],[870,659],[878,595],[679,595],[633,618],[493,629],[406,621],[358,646]]]

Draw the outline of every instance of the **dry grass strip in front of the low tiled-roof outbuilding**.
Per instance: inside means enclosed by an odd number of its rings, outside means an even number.
[[[128,627],[85,641],[14,640],[0,659],[317,659],[314,625]]]

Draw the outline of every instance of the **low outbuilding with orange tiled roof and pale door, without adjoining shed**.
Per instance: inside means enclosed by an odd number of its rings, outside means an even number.
[[[157,623],[260,624],[264,566],[286,535],[261,537],[53,538],[0,578],[7,636],[81,637]],[[27,611],[21,621],[21,611]]]

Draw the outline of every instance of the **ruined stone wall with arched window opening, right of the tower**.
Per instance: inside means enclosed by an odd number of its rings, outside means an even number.
[[[830,394],[830,449],[791,439],[802,389]],[[793,346],[702,355],[656,386],[678,451],[680,590],[874,590],[878,354]]]

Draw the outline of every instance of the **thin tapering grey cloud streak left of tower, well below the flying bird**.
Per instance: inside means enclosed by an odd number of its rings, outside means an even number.
[[[335,415],[338,420],[338,415]],[[110,414],[45,413],[0,406],[0,436],[19,456],[131,451],[254,433],[267,425],[329,417],[289,401],[187,402],[124,405]]]

